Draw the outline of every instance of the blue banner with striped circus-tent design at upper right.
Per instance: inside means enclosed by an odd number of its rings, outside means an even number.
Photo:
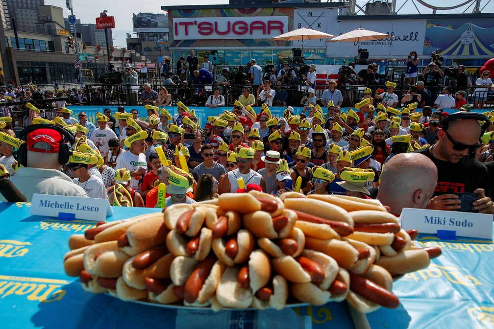
[[[428,19],[424,55],[437,48],[443,56],[493,56],[494,22],[480,19]]]

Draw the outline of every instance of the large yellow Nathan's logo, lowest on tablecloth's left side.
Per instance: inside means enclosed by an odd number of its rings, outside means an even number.
[[[68,284],[65,280],[0,275],[0,298],[18,295],[43,303],[62,300],[67,292],[61,288]]]

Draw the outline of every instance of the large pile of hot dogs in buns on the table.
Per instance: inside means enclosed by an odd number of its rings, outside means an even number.
[[[225,193],[106,222],[69,239],[69,276],[87,292],[197,307],[282,309],[347,300],[395,308],[393,278],[429,265],[384,207],[334,195]]]

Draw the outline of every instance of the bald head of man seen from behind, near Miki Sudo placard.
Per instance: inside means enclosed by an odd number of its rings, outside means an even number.
[[[425,155],[400,153],[384,166],[377,199],[400,216],[403,208],[425,209],[437,184],[437,168]]]

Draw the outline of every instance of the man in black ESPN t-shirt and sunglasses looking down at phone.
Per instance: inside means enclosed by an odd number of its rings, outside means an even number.
[[[453,120],[447,130],[439,131],[439,141],[435,145],[415,151],[431,159],[438,171],[437,186],[428,209],[458,210],[460,200],[453,193],[466,192],[479,194],[479,199],[473,202],[474,209],[480,213],[494,214],[487,168],[468,156],[469,152],[478,148],[480,135],[478,120]]]

